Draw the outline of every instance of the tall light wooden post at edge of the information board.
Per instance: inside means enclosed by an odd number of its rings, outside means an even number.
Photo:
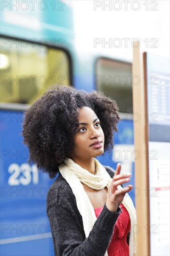
[[[144,55],[134,42],[132,64],[133,120],[135,156],[135,191],[137,210],[137,256],[150,255],[149,170],[147,97],[144,79]],[[138,82],[137,82],[138,81]]]

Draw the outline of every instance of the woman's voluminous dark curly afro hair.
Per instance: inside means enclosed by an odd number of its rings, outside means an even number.
[[[53,85],[25,111],[21,135],[29,148],[29,163],[35,163],[54,178],[59,165],[70,157],[73,136],[78,128],[78,109],[89,107],[100,120],[105,135],[104,151],[113,148],[118,132],[118,106],[103,93],[77,90],[72,86]]]

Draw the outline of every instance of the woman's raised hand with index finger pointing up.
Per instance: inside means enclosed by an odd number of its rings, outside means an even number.
[[[121,164],[118,163],[115,175],[112,178],[111,186],[107,191],[106,207],[112,212],[117,212],[117,209],[124,199],[126,192],[131,191],[132,185],[127,185],[124,188],[118,185],[130,181],[131,173],[120,174]],[[118,187],[118,188],[117,188]]]

